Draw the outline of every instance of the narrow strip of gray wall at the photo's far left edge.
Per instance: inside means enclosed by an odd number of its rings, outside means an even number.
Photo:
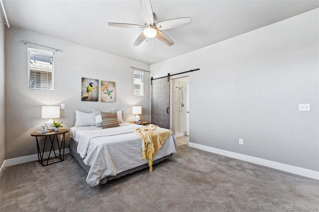
[[[0,15],[1,16],[1,15]],[[3,22],[3,18],[0,17],[0,21]],[[4,24],[0,24],[0,167],[5,159],[5,114],[4,114]]]

